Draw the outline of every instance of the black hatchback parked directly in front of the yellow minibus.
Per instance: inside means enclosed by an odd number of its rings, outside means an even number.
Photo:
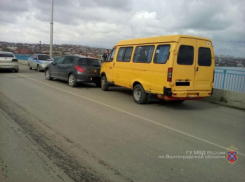
[[[65,80],[71,87],[82,82],[95,83],[100,87],[100,68],[101,63],[96,58],[72,55],[54,60],[47,65],[44,73],[47,80]]]

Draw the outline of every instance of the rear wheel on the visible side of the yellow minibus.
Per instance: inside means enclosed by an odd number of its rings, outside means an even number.
[[[137,84],[133,89],[134,102],[137,104],[145,104],[147,102],[148,94],[145,92],[142,85]]]

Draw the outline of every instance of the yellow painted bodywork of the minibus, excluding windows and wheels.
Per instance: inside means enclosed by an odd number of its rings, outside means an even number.
[[[154,59],[156,55],[160,55],[157,52],[160,50],[158,46],[163,45],[170,46],[169,56],[166,63],[157,64]],[[154,46],[150,62],[134,62],[136,48],[144,46]],[[178,63],[181,46],[189,46],[188,49],[193,50],[193,61],[189,65]],[[127,47],[133,48],[130,61],[118,61],[119,49]],[[173,93],[172,97],[206,97],[212,91],[214,51],[210,39],[170,35],[122,40],[114,46],[113,51],[114,57],[103,63],[101,75],[106,75],[108,82],[115,85],[133,89],[134,84],[139,83],[147,93],[151,94],[164,94],[164,87],[170,88]],[[203,54],[202,51],[211,54],[211,63],[208,66],[199,65],[203,64],[201,61],[207,60],[206,54]],[[181,54],[185,56],[185,52],[182,51]],[[169,68],[173,69],[171,81],[167,81]]]

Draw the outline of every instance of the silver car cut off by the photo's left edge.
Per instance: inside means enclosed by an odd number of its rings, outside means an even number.
[[[0,70],[14,70],[19,72],[19,63],[12,52],[0,51]]]

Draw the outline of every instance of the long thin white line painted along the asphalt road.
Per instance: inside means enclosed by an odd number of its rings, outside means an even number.
[[[222,146],[222,145],[219,145],[219,144],[216,144],[216,143],[210,142],[210,141],[208,141],[208,140],[205,140],[205,139],[202,139],[202,138],[196,137],[196,136],[191,135],[191,134],[189,134],[189,133],[186,133],[186,132],[183,132],[183,131],[180,131],[180,130],[177,130],[177,129],[171,128],[171,127],[169,127],[169,126],[166,126],[166,125],[164,125],[164,124],[158,123],[158,122],[156,122],[156,121],[152,121],[152,120],[150,120],[150,119],[147,119],[147,118],[144,118],[144,117],[138,116],[138,115],[136,115],[136,114],[133,114],[133,113],[130,113],[130,112],[124,111],[124,110],[122,110],[122,109],[118,109],[118,108],[116,108],[116,107],[113,107],[113,106],[110,106],[110,105],[104,104],[104,103],[102,103],[102,102],[99,102],[99,101],[96,101],[96,100],[93,100],[93,99],[89,99],[89,98],[87,98],[87,97],[83,97],[83,96],[81,96],[81,95],[78,95],[78,94],[72,93],[72,92],[70,92],[70,91],[67,91],[67,90],[64,90],[64,89],[61,89],[61,88],[58,88],[58,87],[52,86],[52,85],[49,85],[49,84],[47,84],[47,83],[41,82],[41,81],[39,81],[39,80],[36,80],[36,79],[30,78],[30,77],[27,77],[27,76],[25,76],[25,75],[22,75],[22,74],[18,74],[18,75],[23,76],[24,78],[28,78],[28,79],[30,79],[30,80],[34,80],[34,81],[39,82],[39,83],[41,83],[41,84],[43,84],[43,85],[47,85],[47,86],[49,86],[49,87],[52,87],[52,88],[55,88],[55,89],[61,90],[61,91],[66,92],[66,93],[69,93],[69,94],[71,94],[71,95],[74,95],[74,96],[80,97],[80,98],[82,98],[82,99],[86,99],[86,100],[89,100],[89,101],[91,101],[91,102],[95,102],[95,103],[98,103],[98,104],[100,104],[100,105],[103,105],[103,106],[106,106],[106,107],[112,108],[112,109],[114,109],[114,110],[117,110],[117,111],[120,111],[120,112],[126,113],[126,114],[128,114],[128,115],[134,116],[134,117],[136,117],[136,118],[140,118],[140,119],[142,119],[142,120],[148,121],[148,122],[153,123],[153,124],[156,124],[156,125],[158,125],[158,126],[162,126],[162,127],[164,127],[164,128],[167,128],[167,129],[169,129],[169,130],[172,130],[172,131],[175,131],[175,132],[181,133],[181,134],[186,135],[186,136],[189,136],[189,137],[191,137],[191,138],[195,138],[195,139],[197,139],[197,140],[200,140],[200,141],[202,141],[202,142],[208,143],[208,144],[210,144],[210,145],[214,145],[214,146],[219,147],[219,148],[221,148],[221,149],[227,150],[227,147],[224,147],[224,146]],[[242,155],[242,156],[245,156],[245,154],[243,154],[243,153],[241,153],[241,152],[237,152],[237,153],[238,153],[238,154],[240,154],[240,155]]]

